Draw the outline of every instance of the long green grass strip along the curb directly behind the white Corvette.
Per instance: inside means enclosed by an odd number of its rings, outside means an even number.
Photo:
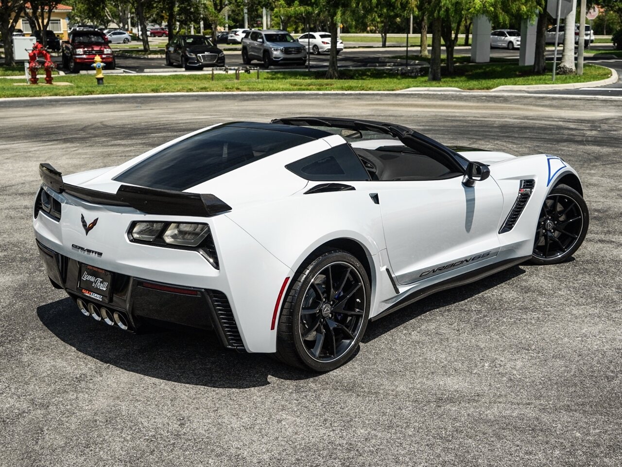
[[[307,73],[262,72],[241,75],[234,80],[233,73],[215,75],[110,75],[103,86],[97,86],[92,75],[73,75],[56,78],[73,86],[15,86],[15,80],[0,78],[0,97],[72,96],[113,93],[207,92],[207,91],[394,91],[410,87],[458,87],[485,90],[501,85],[549,84],[550,75],[532,75],[531,67],[514,64],[465,64],[456,67],[456,75],[432,83],[427,77],[406,77],[386,70],[341,70],[339,80],[325,80],[323,72]],[[587,82],[608,78],[610,71],[595,65],[585,65],[582,77],[558,76],[558,84]]]

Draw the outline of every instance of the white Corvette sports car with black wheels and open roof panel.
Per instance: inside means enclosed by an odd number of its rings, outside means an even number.
[[[40,175],[40,257],[83,314],[214,329],[226,347],[317,371],[346,362],[370,319],[562,262],[588,229],[559,157],[346,118],[225,123],[117,167]]]

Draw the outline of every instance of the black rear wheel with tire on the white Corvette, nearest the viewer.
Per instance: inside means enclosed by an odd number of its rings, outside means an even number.
[[[367,273],[353,255],[327,250],[292,278],[277,328],[277,358],[330,371],[350,359],[369,318]]]

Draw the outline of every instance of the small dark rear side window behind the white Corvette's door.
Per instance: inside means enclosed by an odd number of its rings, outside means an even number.
[[[369,180],[367,171],[350,144],[340,144],[285,167],[297,176],[312,181]]]

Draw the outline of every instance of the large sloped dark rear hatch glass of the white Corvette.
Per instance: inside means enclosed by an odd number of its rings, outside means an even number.
[[[309,141],[313,139],[283,131],[217,126],[162,149],[119,174],[114,180],[183,191]]]

